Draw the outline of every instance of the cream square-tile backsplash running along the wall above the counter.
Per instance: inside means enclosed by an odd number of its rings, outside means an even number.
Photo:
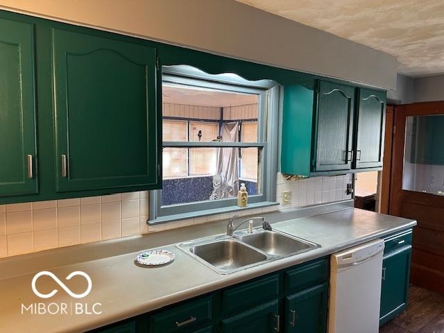
[[[33,251],[158,232],[188,225],[262,214],[305,205],[350,198],[345,192],[352,175],[287,180],[277,176],[277,200],[281,205],[227,212],[212,216],[146,225],[148,191],[0,205],[0,257]],[[282,191],[291,191],[291,204],[282,204]]]

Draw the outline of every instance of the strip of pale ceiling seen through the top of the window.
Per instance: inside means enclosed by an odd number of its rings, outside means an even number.
[[[214,89],[185,87],[180,85],[162,85],[162,101],[164,103],[212,106],[236,106],[258,103],[255,94],[223,92]]]

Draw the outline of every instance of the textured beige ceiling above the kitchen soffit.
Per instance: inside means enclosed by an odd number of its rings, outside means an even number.
[[[409,76],[444,73],[444,0],[237,0],[398,57]]]

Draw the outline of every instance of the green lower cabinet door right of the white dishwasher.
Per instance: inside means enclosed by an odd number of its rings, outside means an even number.
[[[411,246],[390,253],[382,262],[381,309],[382,325],[407,307]]]

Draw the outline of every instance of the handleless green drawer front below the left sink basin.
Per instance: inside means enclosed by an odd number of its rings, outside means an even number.
[[[222,313],[245,309],[279,296],[279,275],[268,276],[222,292]]]

